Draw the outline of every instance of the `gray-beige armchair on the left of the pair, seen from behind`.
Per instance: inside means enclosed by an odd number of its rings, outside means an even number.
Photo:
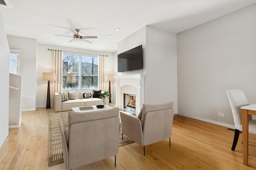
[[[68,113],[69,126],[60,122],[66,169],[77,168],[118,154],[119,108]]]

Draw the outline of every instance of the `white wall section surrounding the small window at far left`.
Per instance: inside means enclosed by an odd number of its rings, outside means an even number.
[[[22,110],[36,109],[37,40],[7,35],[10,49],[21,50],[19,75],[22,76]]]

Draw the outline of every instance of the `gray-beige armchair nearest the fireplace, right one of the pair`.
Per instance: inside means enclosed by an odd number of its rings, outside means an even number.
[[[141,146],[145,146],[172,136],[174,115],[173,102],[165,104],[143,104],[138,117],[120,111],[122,133]]]

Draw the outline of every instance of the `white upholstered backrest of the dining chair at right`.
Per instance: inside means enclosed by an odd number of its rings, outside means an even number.
[[[249,105],[247,98],[240,89],[228,89],[226,93],[233,113],[235,128],[242,130],[238,128],[242,124],[241,107]],[[250,119],[252,119],[252,115],[249,115],[249,120]]]

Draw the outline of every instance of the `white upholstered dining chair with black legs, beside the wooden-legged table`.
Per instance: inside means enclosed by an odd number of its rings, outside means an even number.
[[[236,144],[239,138],[240,132],[242,132],[242,114],[241,107],[247,106],[248,101],[241,89],[228,89],[226,90],[228,100],[233,113],[235,123],[234,141],[231,150],[235,150]],[[256,120],[252,119],[252,115],[249,115],[249,133],[256,134]]]

